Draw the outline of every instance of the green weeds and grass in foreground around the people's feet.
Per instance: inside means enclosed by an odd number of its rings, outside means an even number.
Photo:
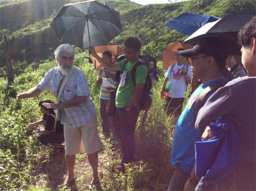
[[[74,64],[86,74],[100,119],[99,88],[95,85],[97,71],[84,61],[84,54],[78,54]],[[161,65],[162,63],[158,63],[158,66]],[[17,85],[14,89],[17,94],[34,87],[54,66],[56,62],[41,64],[38,70],[28,70],[15,78]],[[104,148],[99,153],[99,173],[103,190],[164,190],[168,186],[172,175],[169,162],[172,134],[170,118],[166,117],[164,102],[159,96],[164,79],[163,68],[160,67],[159,70],[160,81],[152,88],[153,104],[144,131],[139,127],[140,123],[137,126],[136,162],[128,167],[126,175],[111,171],[113,166],[120,165],[120,150],[111,151],[109,141],[102,138]],[[55,98],[50,92],[44,92],[35,98],[16,100],[6,91],[6,82],[0,82],[0,189],[61,190],[66,175],[63,154],[52,158],[50,148],[40,145],[37,137],[30,136],[35,127],[28,127],[28,123],[42,117],[38,101]],[[138,121],[141,121],[141,117],[142,115]],[[101,131],[100,125],[99,130]],[[57,163],[54,163],[56,160]],[[76,187],[78,190],[89,189],[86,182],[91,178],[91,170],[86,155],[78,155],[77,161],[76,174],[79,177]]]

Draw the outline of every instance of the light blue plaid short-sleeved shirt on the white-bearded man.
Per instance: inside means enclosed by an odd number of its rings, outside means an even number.
[[[58,88],[63,77],[57,67],[49,70],[36,88],[42,91],[51,90],[54,97],[58,96]],[[90,90],[86,76],[82,70],[75,68],[68,77],[64,90],[60,96],[60,102],[67,102],[74,96],[86,96],[86,102],[75,107],[67,107],[61,110],[61,123],[66,126],[80,127],[88,123],[96,116],[96,108],[90,97]]]

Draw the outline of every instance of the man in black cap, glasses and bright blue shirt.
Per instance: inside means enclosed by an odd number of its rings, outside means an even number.
[[[178,54],[190,57],[193,77],[200,79],[202,84],[189,97],[185,109],[182,111],[174,131],[171,163],[176,166],[168,190],[183,190],[188,179],[196,185],[197,177],[190,174],[195,163],[194,142],[200,141],[202,133],[195,129],[196,99],[208,87],[214,84],[226,84],[224,67],[227,55],[224,45],[214,38],[204,38],[189,50],[179,51]],[[207,94],[204,102],[213,92]]]

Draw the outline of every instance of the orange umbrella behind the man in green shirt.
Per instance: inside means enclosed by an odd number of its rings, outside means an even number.
[[[124,49],[122,49],[120,46],[118,46],[118,44],[108,44],[105,46],[95,46],[94,47],[96,53],[98,54],[98,56],[100,56],[100,58],[102,58],[102,53],[105,51],[110,51],[112,53],[112,62],[115,63],[116,62],[116,58],[122,54],[124,54]],[[96,58],[94,56],[92,56],[92,54],[90,54],[90,57],[92,59],[92,62],[96,68],[96,70],[100,70],[100,68],[102,68],[102,66],[100,65],[100,63],[98,62],[98,60],[96,60]]]

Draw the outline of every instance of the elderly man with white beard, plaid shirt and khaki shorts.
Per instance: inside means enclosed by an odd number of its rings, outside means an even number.
[[[36,97],[51,90],[57,103],[44,103],[44,107],[60,111],[64,125],[65,157],[68,177],[65,187],[75,183],[74,165],[76,154],[83,151],[88,154],[92,166],[92,185],[99,185],[98,151],[102,144],[98,135],[96,109],[86,76],[82,70],[73,66],[75,51],[69,44],[60,45],[54,52],[58,66],[49,70],[36,87],[18,94],[16,99]],[[57,114],[57,113],[56,113]],[[58,118],[58,117],[57,117]]]

